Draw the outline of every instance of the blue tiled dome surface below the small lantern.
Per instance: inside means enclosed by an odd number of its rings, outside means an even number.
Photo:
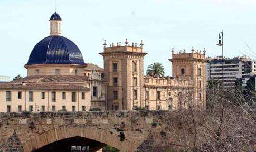
[[[78,46],[64,36],[48,36],[37,43],[26,65],[32,64],[85,65]]]

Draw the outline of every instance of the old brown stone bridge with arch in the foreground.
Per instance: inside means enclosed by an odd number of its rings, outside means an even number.
[[[168,111],[0,113],[0,151],[70,151],[109,145],[120,151],[150,151],[150,132],[166,127]]]

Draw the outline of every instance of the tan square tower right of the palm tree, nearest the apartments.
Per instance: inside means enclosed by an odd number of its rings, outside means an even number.
[[[185,77],[193,81],[193,101],[199,107],[206,107],[206,63],[205,49],[186,53],[185,50],[174,53],[172,50],[173,77]]]

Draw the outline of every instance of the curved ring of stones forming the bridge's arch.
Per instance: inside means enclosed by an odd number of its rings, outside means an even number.
[[[25,143],[22,144],[22,147],[24,152],[31,152],[56,141],[73,137],[84,137],[96,140],[100,143],[115,147],[120,151],[135,151],[136,148],[139,147],[139,142],[136,143],[136,140],[131,137],[126,137],[124,141],[120,141],[119,134],[94,126],[62,126],[54,128],[43,134],[27,139]]]

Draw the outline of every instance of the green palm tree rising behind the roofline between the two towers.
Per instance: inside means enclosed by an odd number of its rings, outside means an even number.
[[[164,74],[165,74],[164,66],[159,62],[150,64],[150,65],[148,65],[146,74],[151,77],[152,76],[153,77],[164,77]]]

